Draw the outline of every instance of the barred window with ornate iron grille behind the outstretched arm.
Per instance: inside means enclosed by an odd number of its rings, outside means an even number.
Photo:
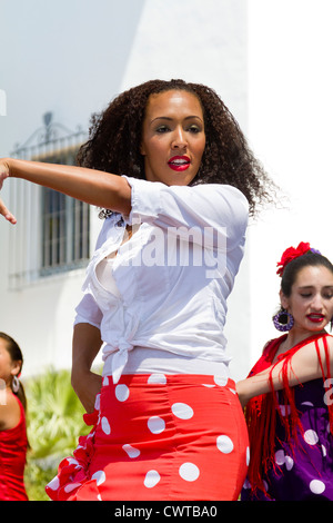
[[[61,139],[52,136],[50,121],[47,140],[24,146],[13,157],[74,165],[82,131]],[[29,141],[29,140],[28,140]],[[19,154],[18,154],[19,152]],[[90,206],[56,190],[24,180],[10,184],[11,210],[18,218],[10,234],[10,288],[18,289],[47,276],[87,265],[90,257]]]

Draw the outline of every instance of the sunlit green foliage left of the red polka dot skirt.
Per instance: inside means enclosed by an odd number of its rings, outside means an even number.
[[[89,432],[84,409],[75,395],[69,371],[49,369],[24,384],[28,401],[26,489],[29,500],[49,500],[46,484],[57,474],[60,461],[71,455],[78,437]]]

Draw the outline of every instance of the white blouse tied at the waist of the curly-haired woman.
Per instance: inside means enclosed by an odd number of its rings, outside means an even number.
[[[129,353],[139,372],[155,364],[184,372],[185,362],[199,374],[215,374],[218,365],[225,376],[223,327],[243,257],[245,197],[226,185],[169,187],[125,178],[131,214],[104,220],[74,323],[100,328],[103,375],[112,374],[114,383],[131,371]],[[123,243],[127,224],[135,229]]]

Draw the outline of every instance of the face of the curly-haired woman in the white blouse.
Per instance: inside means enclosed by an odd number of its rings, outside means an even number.
[[[147,180],[189,185],[204,146],[203,111],[195,95],[170,90],[149,97],[141,144]]]

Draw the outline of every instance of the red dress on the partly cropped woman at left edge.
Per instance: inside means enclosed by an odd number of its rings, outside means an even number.
[[[0,500],[28,501],[23,474],[28,448],[26,414],[21,402],[21,416],[18,425],[0,431]]]

